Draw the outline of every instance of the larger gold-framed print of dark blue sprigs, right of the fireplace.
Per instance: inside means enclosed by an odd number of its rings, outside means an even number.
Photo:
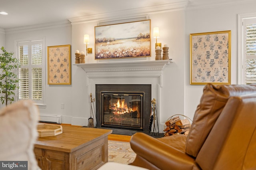
[[[231,83],[231,31],[190,34],[190,84]]]

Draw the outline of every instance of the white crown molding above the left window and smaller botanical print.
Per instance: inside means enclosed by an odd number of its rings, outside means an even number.
[[[36,24],[32,26],[23,26],[23,27],[16,27],[16,28],[7,28],[5,29],[6,34],[15,34],[15,33],[22,33],[22,32],[31,32],[37,30],[45,30],[45,29],[52,29],[52,28],[60,28],[65,26],[71,26],[68,20],[60,21],[60,22],[50,22],[45,24]]]

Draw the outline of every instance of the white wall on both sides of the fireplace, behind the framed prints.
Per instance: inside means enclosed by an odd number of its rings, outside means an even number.
[[[231,30],[231,83],[237,83],[237,14],[255,12],[256,2],[247,4],[229,5],[211,8],[187,8],[162,13],[148,14],[153,27],[160,28],[158,42],[168,44],[169,58],[171,63],[164,68],[163,86],[160,88],[163,99],[157,103],[160,107],[160,123],[163,124],[174,114],[185,114],[191,119],[194,116],[196,106],[202,95],[203,85],[190,85],[190,54],[189,35],[200,32],[215,32]],[[81,22],[43,29],[20,29],[20,31],[6,30],[4,36],[0,34],[1,43],[9,51],[14,51],[14,42],[18,39],[45,37],[46,57],[47,46],[71,44],[72,64],[75,63],[74,51],[85,51],[83,43],[84,34],[89,34],[92,47],[92,54],[86,56],[86,63],[99,62],[94,60],[94,26],[99,20]],[[3,38],[3,39],[2,39]],[[152,38],[152,57],[147,60],[154,60],[154,43]],[[47,61],[47,60],[46,60]],[[45,65],[47,68],[47,63]],[[72,125],[87,125],[89,111],[86,103],[89,103],[90,91],[86,85],[85,71],[80,67],[72,65],[72,85],[47,85],[46,73],[46,109],[40,109],[42,114],[62,115],[62,123]],[[60,109],[60,103],[64,103],[64,109]]]

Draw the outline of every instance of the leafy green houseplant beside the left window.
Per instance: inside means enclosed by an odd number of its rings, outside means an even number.
[[[18,59],[12,57],[13,53],[7,52],[1,47],[3,53],[0,53],[0,101],[8,105],[14,101],[15,90],[18,89],[17,69],[20,67]]]

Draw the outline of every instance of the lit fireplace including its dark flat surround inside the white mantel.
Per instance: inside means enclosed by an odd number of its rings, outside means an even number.
[[[148,130],[151,85],[96,85],[98,127]]]

